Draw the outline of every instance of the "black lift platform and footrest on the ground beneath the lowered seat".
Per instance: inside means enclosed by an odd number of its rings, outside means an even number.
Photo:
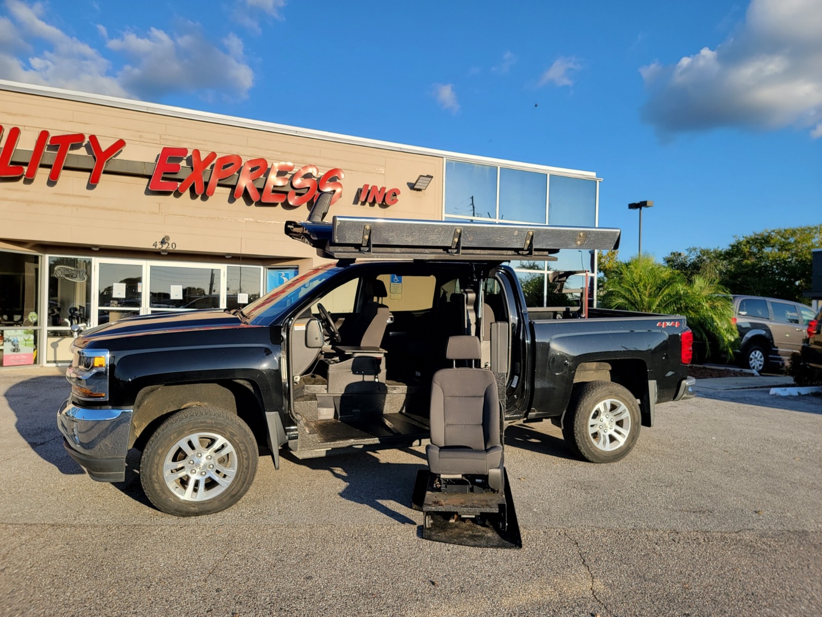
[[[502,492],[458,492],[436,489],[436,474],[417,472],[412,506],[422,511],[423,538],[481,548],[521,549],[514,499],[503,471]]]

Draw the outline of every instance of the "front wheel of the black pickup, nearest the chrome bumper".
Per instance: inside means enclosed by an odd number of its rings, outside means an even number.
[[[237,415],[208,406],[188,407],[160,424],[145,444],[140,481],[146,497],[164,513],[176,517],[213,514],[230,508],[246,494],[258,458],[254,434]],[[169,476],[167,462],[178,466]]]

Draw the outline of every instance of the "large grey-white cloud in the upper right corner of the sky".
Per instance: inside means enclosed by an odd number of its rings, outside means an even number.
[[[723,126],[811,128],[822,137],[822,2],[752,0],[716,49],[640,68],[642,118],[663,137]]]

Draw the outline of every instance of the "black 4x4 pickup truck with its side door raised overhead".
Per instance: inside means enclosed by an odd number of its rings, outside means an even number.
[[[432,374],[450,336],[478,336],[505,424],[549,419],[569,448],[613,462],[657,403],[692,396],[682,317],[526,308],[514,259],[618,245],[619,230],[335,217],[286,224],[332,260],[242,309],[124,318],[73,346],[58,411],[94,480],[140,477],[178,516],[228,508],[261,452],[294,457],[430,438]]]

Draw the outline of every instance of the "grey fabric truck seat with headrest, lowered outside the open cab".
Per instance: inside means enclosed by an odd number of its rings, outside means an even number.
[[[476,336],[451,336],[448,360],[480,360]],[[496,379],[487,369],[452,368],[434,373],[431,385],[431,444],[426,448],[432,473],[487,476],[502,490],[501,407]]]

